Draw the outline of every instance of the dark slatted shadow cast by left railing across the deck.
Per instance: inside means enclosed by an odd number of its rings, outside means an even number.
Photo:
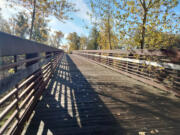
[[[125,131],[69,56],[64,56],[25,135],[122,135]]]

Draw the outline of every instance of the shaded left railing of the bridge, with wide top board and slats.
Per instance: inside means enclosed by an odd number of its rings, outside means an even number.
[[[0,32],[0,135],[20,134],[63,51]]]

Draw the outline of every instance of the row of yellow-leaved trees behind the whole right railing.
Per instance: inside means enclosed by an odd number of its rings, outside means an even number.
[[[73,49],[180,48],[178,0],[90,0],[92,24],[86,44]],[[70,34],[69,37],[77,34]],[[81,39],[81,37],[79,38]],[[83,48],[83,47],[84,48]]]

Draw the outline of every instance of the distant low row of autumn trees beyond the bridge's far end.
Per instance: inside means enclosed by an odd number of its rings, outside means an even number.
[[[67,36],[69,52],[72,50],[109,50],[109,49],[120,49],[117,36],[112,37],[112,47],[110,48],[106,33],[103,33],[97,29],[97,27],[92,27],[88,37],[79,36],[76,32],[70,33]]]

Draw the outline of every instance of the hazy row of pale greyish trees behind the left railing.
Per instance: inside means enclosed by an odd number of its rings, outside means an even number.
[[[47,23],[48,20],[44,17],[36,17],[31,33],[31,40],[58,48],[61,45],[64,34],[61,31],[51,31]],[[0,31],[29,39],[30,29],[30,19],[27,13],[19,12],[9,20],[3,19],[0,14]]]

